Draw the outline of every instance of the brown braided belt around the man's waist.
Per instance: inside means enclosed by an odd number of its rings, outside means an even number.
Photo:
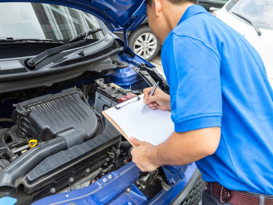
[[[228,190],[218,182],[206,182],[208,189],[222,203],[233,205],[259,205],[260,197],[246,192]],[[265,195],[266,196],[266,195]],[[270,196],[271,197],[271,196]],[[273,198],[264,198],[264,205],[273,205]]]

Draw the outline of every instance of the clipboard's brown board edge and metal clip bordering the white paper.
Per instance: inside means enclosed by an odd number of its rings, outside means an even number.
[[[128,105],[128,104],[130,104],[130,103],[133,103],[133,102],[136,102],[136,101],[139,101],[141,98],[139,97],[139,96],[135,96],[135,97],[132,97],[132,98],[129,98],[129,99],[127,99],[127,100],[124,100],[123,102],[119,102],[118,104],[116,104],[115,106],[114,106],[114,108],[116,109],[116,110],[119,110],[119,109],[121,109],[122,107],[124,107],[124,106],[126,106],[126,105]],[[110,108],[108,108],[107,110],[109,110],[109,109],[113,109],[113,107],[110,107]],[[114,125],[114,127],[120,132],[120,134],[122,134],[123,135],[123,137],[125,137],[125,139],[127,139],[128,140],[128,142],[130,142],[132,145],[133,145],[133,147],[135,147],[135,145],[131,142],[131,140],[130,140],[130,138],[125,134],[125,132],[123,132],[123,130],[120,128],[120,126],[109,116],[109,115],[107,115],[106,113],[105,113],[105,111],[107,111],[107,110],[104,110],[104,111],[102,111],[102,114],[105,116],[105,118],[112,124],[112,125]]]

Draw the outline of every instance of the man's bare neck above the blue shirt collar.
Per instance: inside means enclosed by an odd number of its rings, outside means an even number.
[[[184,3],[182,5],[173,5],[171,3],[168,4],[165,10],[166,20],[168,22],[168,25],[170,27],[170,30],[173,30],[185,11],[188,7],[194,5],[193,3]],[[167,37],[167,36],[166,36]]]

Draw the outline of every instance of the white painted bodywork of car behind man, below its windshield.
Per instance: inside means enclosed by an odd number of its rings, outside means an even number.
[[[215,11],[217,17],[248,40],[262,57],[268,78],[273,79],[273,30],[259,28],[262,35],[258,36],[253,26],[244,23],[235,15],[230,15],[226,10],[226,5],[219,11]]]

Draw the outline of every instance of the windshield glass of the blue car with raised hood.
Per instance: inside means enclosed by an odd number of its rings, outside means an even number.
[[[69,40],[91,28],[101,27],[95,16],[52,4],[0,3],[0,38]],[[103,31],[88,39],[101,39]]]

